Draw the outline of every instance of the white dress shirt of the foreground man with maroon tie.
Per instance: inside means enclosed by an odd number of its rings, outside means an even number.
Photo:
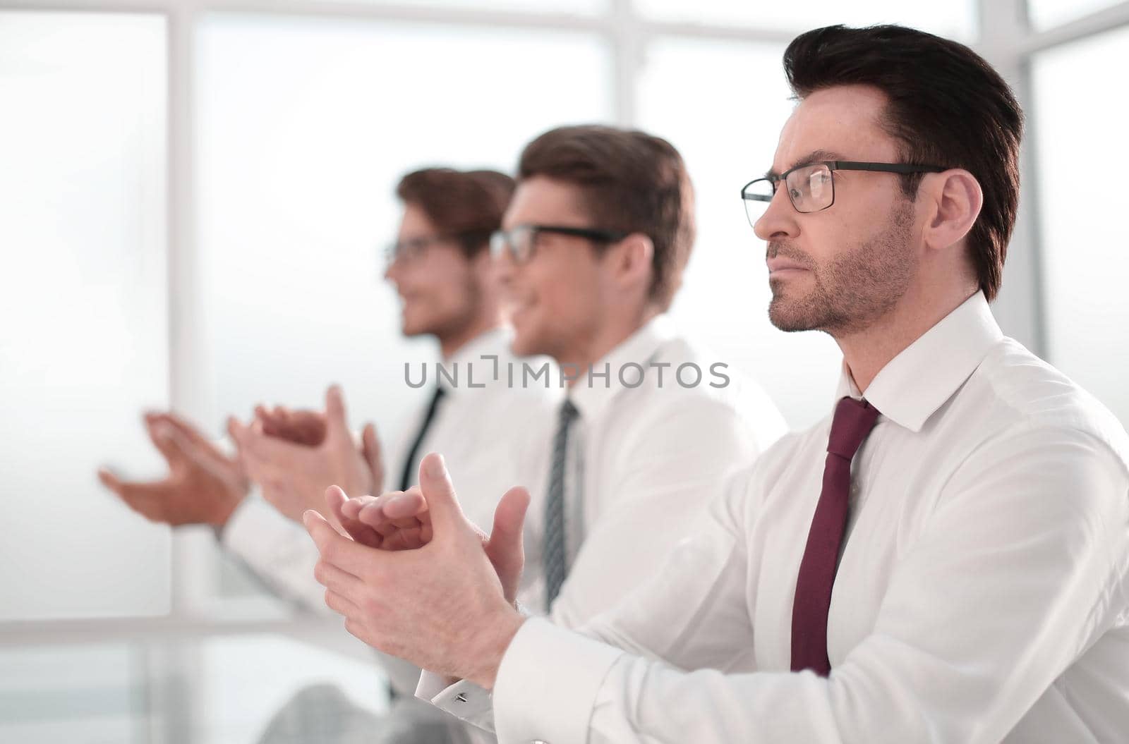
[[[849,375],[840,393],[859,396]],[[1121,424],[980,294],[866,399],[882,415],[854,462],[830,677],[789,671],[829,417],[735,478],[585,634],[527,621],[495,686],[500,741],[1129,739]]]

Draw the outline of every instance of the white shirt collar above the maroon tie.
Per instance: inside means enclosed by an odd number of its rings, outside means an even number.
[[[866,388],[883,417],[913,431],[964,384],[1004,334],[977,292],[891,359]],[[863,397],[843,362],[835,400]]]

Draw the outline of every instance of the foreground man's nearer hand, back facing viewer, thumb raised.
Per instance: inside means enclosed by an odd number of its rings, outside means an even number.
[[[491,689],[523,618],[507,602],[482,533],[463,515],[439,455],[420,463],[420,489],[434,535],[417,550],[369,548],[307,511],[304,522],[322,555],[314,576],[326,587],[325,603],[345,616],[345,630],[369,646]],[[499,554],[520,557],[528,504],[523,488],[502,496],[495,524],[504,529],[496,526],[485,541],[498,541]]]

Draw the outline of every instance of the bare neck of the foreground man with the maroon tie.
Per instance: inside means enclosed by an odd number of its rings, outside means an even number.
[[[855,386],[866,393],[883,367],[978,291],[979,287],[961,286],[929,297],[921,288],[911,289],[864,330],[832,333]]]

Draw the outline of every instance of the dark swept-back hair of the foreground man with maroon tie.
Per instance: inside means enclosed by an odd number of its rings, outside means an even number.
[[[784,53],[793,93],[866,85],[886,96],[884,129],[914,165],[964,168],[983,191],[969,250],[988,299],[996,297],[1019,205],[1023,111],[1010,87],[963,44],[902,26],[828,26],[800,34]],[[917,193],[920,174],[902,176]]]

